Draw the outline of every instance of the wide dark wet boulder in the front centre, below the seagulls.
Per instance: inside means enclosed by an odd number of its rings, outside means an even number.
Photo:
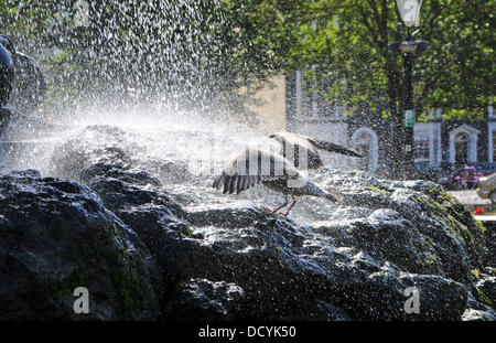
[[[387,262],[391,256],[373,258],[356,248],[338,248],[322,229],[255,208],[185,212],[159,189],[148,189],[141,197],[143,190],[136,184],[105,175],[89,184],[98,193],[109,190],[122,197],[116,202],[101,194],[160,268],[169,294],[162,319],[455,320],[465,310],[463,285],[405,274]],[[380,229],[391,235],[393,228],[382,223]],[[352,242],[360,246],[358,239]],[[369,250],[384,239],[375,242]],[[237,297],[226,296],[227,283],[238,290]],[[422,310],[413,315],[403,309],[409,287],[421,289]]]

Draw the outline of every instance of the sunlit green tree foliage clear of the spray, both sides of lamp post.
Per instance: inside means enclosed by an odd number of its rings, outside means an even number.
[[[403,66],[388,44],[408,34],[431,42],[416,58],[418,112],[441,108],[446,116],[477,117],[493,101],[493,0],[425,0],[418,30],[402,25],[396,2],[387,0],[251,0],[233,7],[242,12],[240,26],[252,35],[251,54],[263,65],[287,72],[324,66],[308,76],[332,81],[333,105],[356,109],[365,103],[378,116],[398,114]]]

